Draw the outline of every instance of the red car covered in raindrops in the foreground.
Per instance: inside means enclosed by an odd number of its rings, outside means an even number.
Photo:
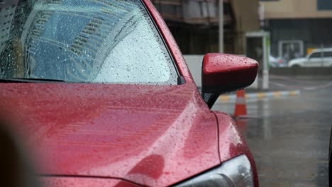
[[[0,114],[20,124],[44,186],[258,186],[234,121],[210,110],[253,83],[257,62],[205,55],[200,94],[149,0],[0,10]]]

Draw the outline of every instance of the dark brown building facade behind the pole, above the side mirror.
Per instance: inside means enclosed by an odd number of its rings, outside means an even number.
[[[258,0],[152,0],[184,54],[218,52],[219,1],[224,51],[243,55],[245,33],[260,27]]]

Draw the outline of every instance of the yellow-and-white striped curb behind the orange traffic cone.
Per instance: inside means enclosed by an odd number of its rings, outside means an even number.
[[[259,99],[259,98],[280,98],[284,96],[299,96],[301,92],[299,90],[292,91],[267,91],[258,93],[245,94],[246,99]],[[236,94],[219,96],[218,101],[236,101]]]

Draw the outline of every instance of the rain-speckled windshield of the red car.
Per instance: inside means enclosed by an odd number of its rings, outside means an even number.
[[[5,0],[0,8],[2,79],[177,84],[140,1]]]

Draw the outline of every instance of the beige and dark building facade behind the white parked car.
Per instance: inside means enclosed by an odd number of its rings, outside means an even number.
[[[260,6],[273,56],[291,60],[332,47],[331,0],[261,0]]]

